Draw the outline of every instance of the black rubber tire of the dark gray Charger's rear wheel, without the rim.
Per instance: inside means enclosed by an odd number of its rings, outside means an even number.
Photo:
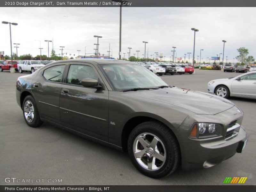
[[[26,117],[24,115],[24,105],[25,105],[26,101],[30,101],[34,106],[34,120],[31,123],[26,120]],[[23,112],[23,117],[24,117],[26,123],[28,124],[28,126],[38,127],[42,124],[42,121],[40,120],[40,116],[39,116],[39,113],[37,110],[36,101],[34,100],[34,98],[31,95],[28,95],[27,97],[25,97],[23,104],[22,104],[22,112]]]

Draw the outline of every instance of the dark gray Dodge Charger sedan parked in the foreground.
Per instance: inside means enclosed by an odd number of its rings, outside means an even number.
[[[57,61],[17,80],[26,123],[50,122],[128,151],[152,178],[207,168],[241,153],[248,136],[243,112],[208,93],[168,86],[129,61]]]

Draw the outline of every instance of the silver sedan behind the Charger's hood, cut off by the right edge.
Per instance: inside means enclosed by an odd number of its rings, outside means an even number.
[[[236,77],[212,80],[208,83],[208,92],[224,98],[256,99],[256,70]]]

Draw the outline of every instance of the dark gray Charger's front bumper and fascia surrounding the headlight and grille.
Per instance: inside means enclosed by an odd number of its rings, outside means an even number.
[[[241,153],[243,144],[248,138],[243,126],[236,130],[235,137],[226,138],[228,125],[234,120],[242,124],[243,113],[237,113],[237,107],[228,109],[216,115],[195,115],[187,117],[174,132],[178,133],[180,144],[182,168],[185,170],[208,168],[220,164],[237,152]],[[191,125],[195,122],[218,123],[222,127],[221,136],[208,139],[191,139],[189,133]],[[177,135],[177,134],[175,134]]]

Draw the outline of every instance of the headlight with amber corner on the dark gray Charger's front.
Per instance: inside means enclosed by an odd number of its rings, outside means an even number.
[[[189,137],[192,139],[205,139],[221,135],[221,126],[214,123],[195,123]]]

